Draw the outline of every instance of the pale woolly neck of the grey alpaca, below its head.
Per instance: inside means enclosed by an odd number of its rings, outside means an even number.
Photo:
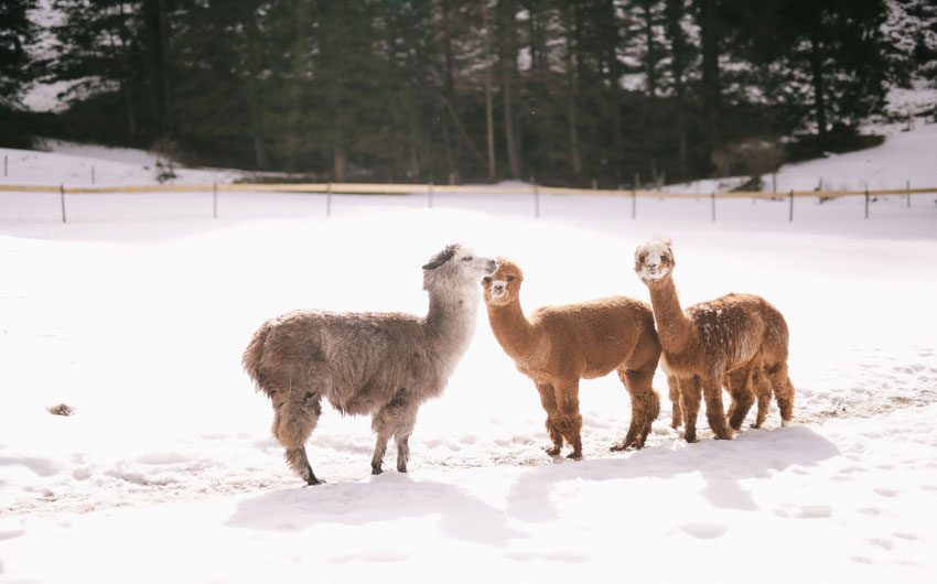
[[[481,290],[430,292],[430,310],[423,321],[429,346],[438,357],[459,357],[475,334]]]

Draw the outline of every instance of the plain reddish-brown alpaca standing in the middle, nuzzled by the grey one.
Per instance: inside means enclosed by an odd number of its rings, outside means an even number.
[[[484,280],[488,321],[502,348],[540,392],[553,441],[547,454],[557,456],[566,439],[572,446],[569,457],[582,457],[579,380],[613,370],[631,394],[632,423],[612,450],[643,447],[660,412],[660,399],[650,387],[660,358],[650,306],[615,296],[546,306],[528,320],[520,307],[520,268],[504,258],[497,261],[497,271]]]

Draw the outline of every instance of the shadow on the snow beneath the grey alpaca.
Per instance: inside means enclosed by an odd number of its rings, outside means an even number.
[[[365,526],[435,515],[442,534],[453,539],[505,545],[508,540],[527,537],[507,527],[502,510],[454,485],[394,478],[265,493],[240,501],[226,524],[300,531],[329,523]]]

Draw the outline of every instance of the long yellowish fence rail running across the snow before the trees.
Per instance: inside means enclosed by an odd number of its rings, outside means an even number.
[[[632,188],[569,188],[543,185],[434,185],[434,184],[390,184],[390,183],[205,183],[205,184],[159,184],[159,185],[122,185],[122,186],[63,186],[63,185],[15,185],[0,184],[0,192],[12,193],[62,193],[66,195],[87,194],[142,194],[142,193],[213,193],[213,192],[276,192],[276,193],[320,193],[320,194],[357,194],[357,195],[433,195],[451,194],[530,194],[530,195],[589,195],[614,197],[654,197],[654,198],[774,198],[786,197],[822,197],[838,198],[844,196],[884,196],[884,195],[923,195],[937,194],[937,186],[915,188],[880,188],[880,190],[823,190],[823,191],[790,191],[787,193],[769,193],[764,191],[732,191],[725,193],[670,193],[667,191],[632,190]]]

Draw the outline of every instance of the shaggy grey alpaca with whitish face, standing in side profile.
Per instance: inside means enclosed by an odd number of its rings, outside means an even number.
[[[397,442],[397,469],[407,472],[420,404],[439,396],[475,332],[481,281],[496,269],[452,245],[423,266],[430,307],[401,313],[298,311],[263,323],[244,352],[244,368],[273,403],[273,436],[290,467],[308,484],[305,441],[322,413],[322,398],[342,413],[370,414],[379,474],[387,442]]]

